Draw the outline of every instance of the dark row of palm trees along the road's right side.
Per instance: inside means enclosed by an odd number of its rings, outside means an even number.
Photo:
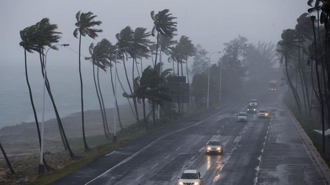
[[[308,0],[308,13],[298,19],[295,29],[286,29],[278,42],[284,63],[283,74],[300,113],[321,115],[323,151],[325,124],[330,127],[329,20],[330,0]]]

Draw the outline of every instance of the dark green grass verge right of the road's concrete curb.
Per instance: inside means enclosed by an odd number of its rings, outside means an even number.
[[[317,116],[316,112],[312,113],[311,116],[309,116],[307,113],[300,114],[295,106],[295,103],[293,102],[293,97],[289,97],[287,94],[285,94],[284,96],[284,103],[299,121],[300,125],[302,126],[308,137],[312,140],[315,148],[317,148],[322,158],[326,161],[328,166],[330,166],[330,137],[326,136],[326,152],[323,152],[322,135],[313,131],[313,129],[319,130],[317,125],[321,125],[320,117]]]

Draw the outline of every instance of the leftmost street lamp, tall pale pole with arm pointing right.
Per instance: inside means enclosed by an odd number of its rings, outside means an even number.
[[[39,174],[45,173],[45,165],[44,165],[44,123],[45,123],[45,89],[46,89],[46,64],[47,64],[47,53],[50,48],[53,48],[55,46],[69,46],[69,44],[55,44],[50,46],[45,54],[45,64],[44,64],[44,93],[43,93],[43,119],[41,123],[41,148],[40,148],[40,165],[39,165]]]

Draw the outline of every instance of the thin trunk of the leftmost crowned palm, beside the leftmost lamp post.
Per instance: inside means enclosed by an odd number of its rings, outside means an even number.
[[[24,59],[25,59],[25,78],[26,78],[26,83],[28,84],[28,88],[29,88],[29,95],[30,95],[30,101],[31,101],[31,106],[32,106],[32,110],[33,110],[33,115],[34,115],[34,118],[35,118],[35,121],[36,121],[37,133],[38,133],[38,140],[39,140],[39,147],[41,148],[41,134],[40,134],[38,116],[37,116],[36,108],[34,106],[33,97],[32,97],[32,90],[31,90],[31,86],[30,86],[30,82],[29,82],[29,77],[28,77],[28,67],[27,67],[27,60],[26,60],[26,49],[24,49]],[[65,146],[65,143],[64,143],[64,146]],[[53,170],[53,168],[51,168],[50,166],[47,165],[47,162],[46,162],[45,157],[43,157],[43,162],[44,162],[44,165],[45,165],[45,167],[46,167],[46,169],[48,171]]]

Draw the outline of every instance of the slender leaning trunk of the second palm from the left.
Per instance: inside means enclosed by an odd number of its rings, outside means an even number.
[[[44,51],[43,51],[43,49],[41,49],[39,51],[39,58],[40,58],[40,65],[41,65],[41,73],[42,73],[43,78],[44,78],[45,77],[45,73],[44,73]],[[62,141],[64,150],[66,151],[66,150],[68,150],[68,147],[66,146],[66,142],[64,140],[62,129],[61,129],[61,126],[60,126],[62,124],[61,123],[61,118],[59,117],[59,114],[58,114],[58,111],[57,111],[57,108],[56,108],[56,105],[55,105],[55,102],[54,102],[52,93],[50,91],[50,84],[49,84],[49,81],[48,81],[48,78],[47,78],[47,74],[46,74],[46,88],[47,88],[47,93],[48,93],[48,95],[50,97],[52,106],[53,106],[54,111],[55,111],[56,120],[57,120],[57,126],[58,126],[59,134],[60,134],[60,137],[61,137],[61,141]]]

